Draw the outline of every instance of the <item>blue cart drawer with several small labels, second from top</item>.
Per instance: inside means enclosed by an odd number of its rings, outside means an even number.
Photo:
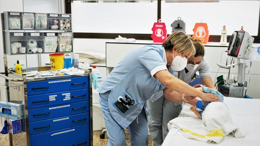
[[[28,96],[28,109],[89,100],[89,89]]]

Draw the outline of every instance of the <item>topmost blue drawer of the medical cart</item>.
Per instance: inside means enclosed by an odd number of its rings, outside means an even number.
[[[66,78],[27,83],[27,95],[54,93],[89,88],[89,77]]]

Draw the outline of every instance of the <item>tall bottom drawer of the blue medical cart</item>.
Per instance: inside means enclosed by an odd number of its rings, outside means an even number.
[[[89,146],[89,124],[30,135],[30,146]]]

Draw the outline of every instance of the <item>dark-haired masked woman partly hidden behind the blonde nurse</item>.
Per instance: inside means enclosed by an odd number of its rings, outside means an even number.
[[[175,68],[174,70],[176,72],[170,73],[185,83],[191,83],[196,77],[196,72],[199,71],[203,85],[217,90],[210,77],[209,64],[204,58],[205,50],[203,44],[196,39],[192,39],[192,42],[196,49],[194,57],[188,59],[187,65],[184,69],[176,70]],[[164,94],[167,97],[163,96],[163,91],[158,91],[147,100],[147,108],[149,111],[147,116],[148,127],[156,146],[162,145],[163,140],[169,132],[167,126],[168,122],[178,117],[182,109],[182,94],[176,91],[171,91],[170,89],[165,89]],[[179,101],[176,99],[179,99]],[[189,104],[194,106],[197,104],[197,107],[202,105],[199,102],[201,101],[198,101],[197,99],[189,100]]]

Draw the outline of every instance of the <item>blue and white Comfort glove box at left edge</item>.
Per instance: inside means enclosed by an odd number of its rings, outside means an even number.
[[[0,117],[13,120],[22,119],[22,105],[12,102],[0,101]]]

